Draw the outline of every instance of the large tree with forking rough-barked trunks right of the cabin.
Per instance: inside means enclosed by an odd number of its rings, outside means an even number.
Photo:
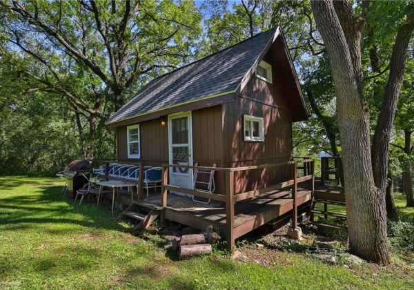
[[[382,168],[374,172],[370,148],[370,117],[362,86],[360,47],[368,6],[369,3],[366,2],[362,17],[357,17],[353,8],[345,1],[312,2],[317,27],[328,50],[337,94],[337,119],[344,157],[350,248],[368,260],[389,264],[385,215],[388,143],[404,76],[405,61],[401,59],[406,57],[414,26],[414,14],[411,12],[408,15],[400,28],[403,32],[400,33],[399,30],[395,41],[388,89],[384,94],[383,109],[377,125],[377,128],[382,130],[377,134],[382,135],[384,139],[375,141],[374,137],[373,142],[373,151],[380,151],[379,157],[376,153],[373,157],[376,158],[375,162],[380,162]],[[397,71],[401,69],[402,73]]]

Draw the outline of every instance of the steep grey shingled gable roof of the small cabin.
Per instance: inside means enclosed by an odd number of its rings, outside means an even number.
[[[117,122],[140,115],[241,91],[277,37],[284,38],[279,26],[153,79],[113,114],[106,125],[117,126]],[[290,55],[288,59],[307,116]]]

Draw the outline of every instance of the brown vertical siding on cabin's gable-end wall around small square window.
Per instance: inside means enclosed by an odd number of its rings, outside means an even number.
[[[271,59],[264,59],[272,64]],[[253,76],[234,102],[223,105],[224,166],[275,164],[291,160],[292,115],[273,69],[273,84]],[[264,118],[264,141],[244,141],[244,115]],[[235,193],[261,189],[290,178],[287,166],[235,173]]]

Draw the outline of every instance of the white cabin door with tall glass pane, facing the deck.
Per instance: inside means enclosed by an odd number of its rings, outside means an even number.
[[[191,128],[191,112],[168,115],[170,164],[193,166],[193,133]],[[170,168],[170,184],[193,189],[193,169]],[[176,192],[171,193],[184,195]]]

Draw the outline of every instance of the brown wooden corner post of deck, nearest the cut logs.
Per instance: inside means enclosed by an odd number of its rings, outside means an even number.
[[[227,249],[231,253],[235,248],[235,239],[233,233],[233,223],[235,220],[235,202],[234,202],[234,172],[226,171],[226,240]]]

